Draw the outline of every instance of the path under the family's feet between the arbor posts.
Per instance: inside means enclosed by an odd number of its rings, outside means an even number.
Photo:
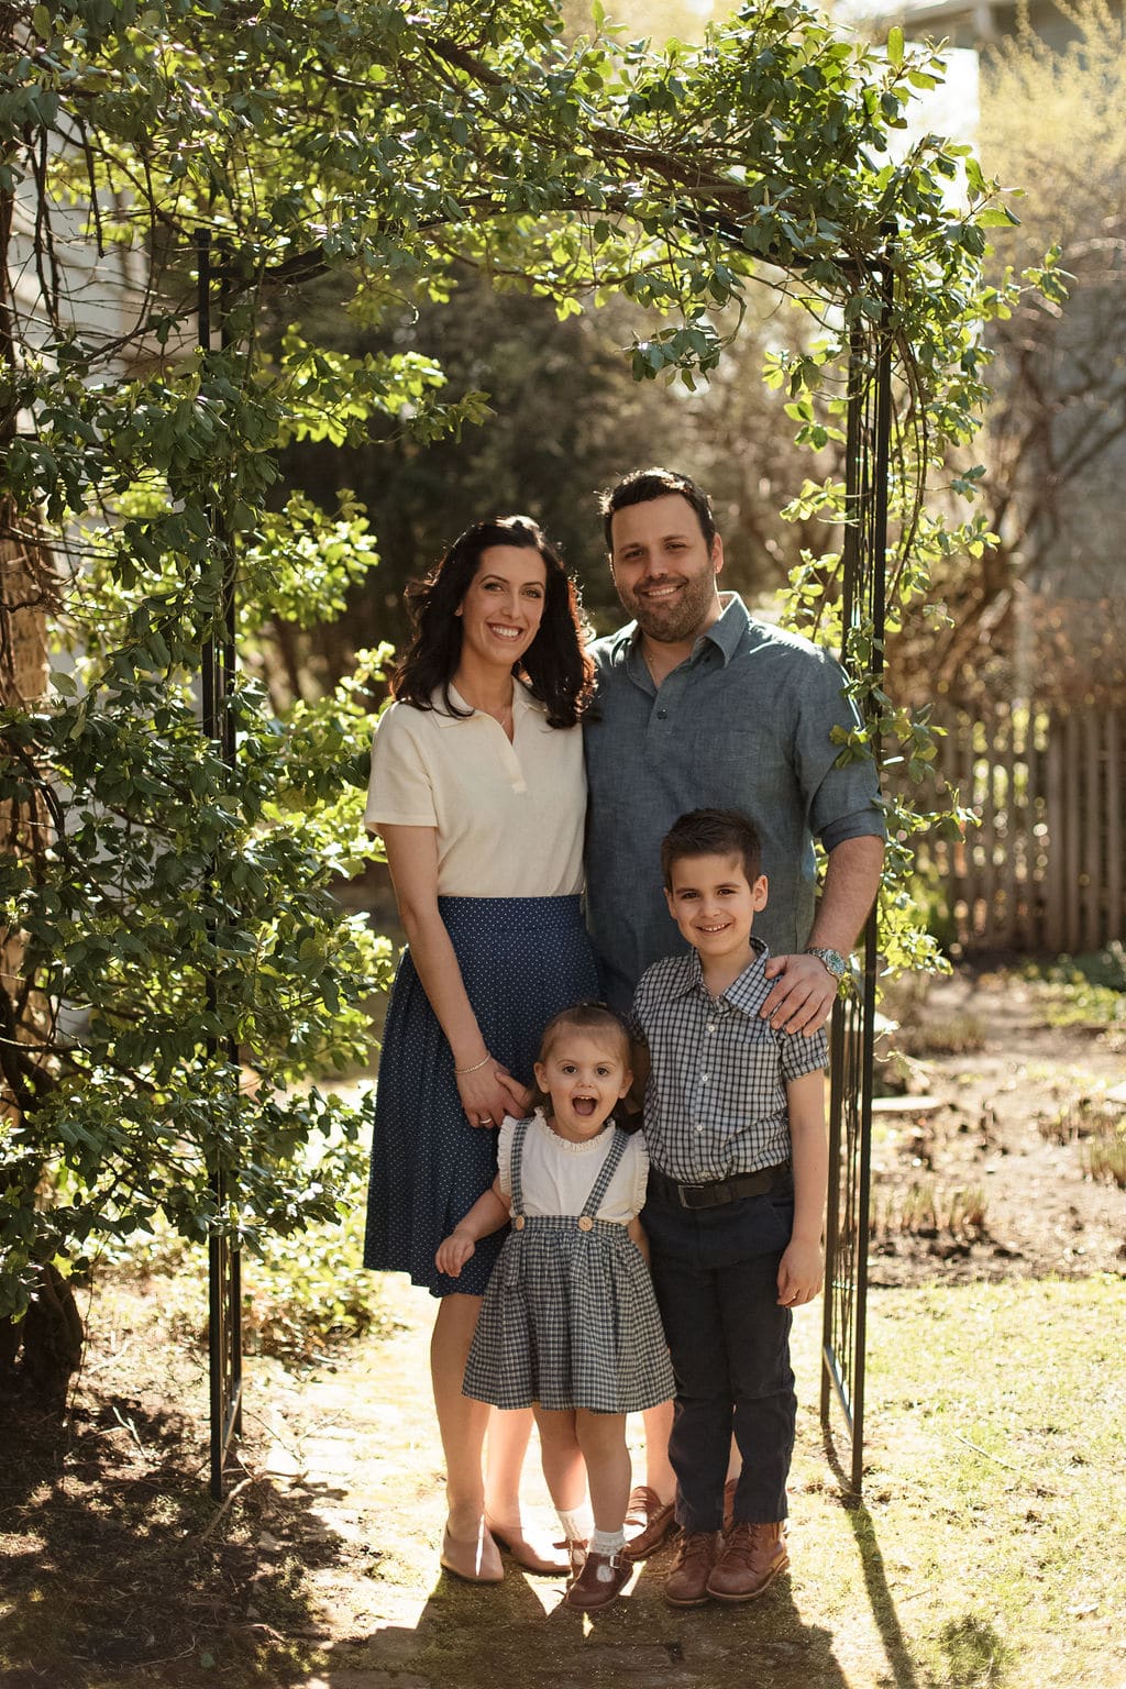
[[[466,1586],[441,1572],[441,1453],[425,1373],[430,1306],[425,1294],[390,1279],[387,1294],[398,1326],[393,1336],[365,1344],[334,1375],[294,1390],[289,1404],[279,1400],[265,1451],[280,1512],[294,1527],[304,1520],[304,1539],[287,1542],[279,1527],[260,1537],[267,1556],[297,1549],[307,1566],[324,1665],[304,1689],[485,1689],[495,1682],[728,1689],[760,1675],[773,1689],[842,1689],[846,1682],[874,1689],[888,1669],[874,1620],[869,1615],[859,1630],[849,1625],[841,1652],[832,1618],[841,1591],[812,1589],[802,1574],[802,1537],[810,1530],[832,1530],[842,1556],[858,1559],[810,1412],[815,1314],[804,1317],[798,1339],[805,1409],[792,1578],[746,1608],[679,1613],[660,1596],[670,1564],[665,1551],[640,1571],[628,1598],[584,1620],[560,1605],[562,1579],[532,1578],[512,1562],[496,1588]],[[547,1523],[542,1481],[532,1498]],[[319,1532],[333,1540],[321,1564],[307,1556]],[[861,1675],[854,1675],[858,1667]]]

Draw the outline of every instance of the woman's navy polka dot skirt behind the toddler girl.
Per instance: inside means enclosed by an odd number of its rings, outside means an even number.
[[[544,1027],[598,997],[579,897],[439,897],[490,1056],[533,1084]],[[496,1132],[471,1127],[454,1059],[403,951],[383,1029],[365,1267],[409,1272],[430,1295],[483,1295],[506,1230],[483,1238],[459,1279],[434,1252],[496,1177]]]

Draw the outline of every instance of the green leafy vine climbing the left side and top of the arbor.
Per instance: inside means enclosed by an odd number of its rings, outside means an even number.
[[[47,537],[69,576],[56,692],[10,696],[0,720],[24,981],[5,995],[0,1309],[19,1311],[37,1262],[155,1211],[253,1241],[333,1208],[331,1165],[311,1181],[302,1157],[343,1111],[290,1088],[360,1054],[387,966],[329,895],[366,851],[380,655],[287,720],[250,664],[233,762],[201,730],[194,677],[231,584],[253,654],[270,610],[338,613],[376,566],[346,495],[277,497],[284,446],[360,441],[375,417],[425,444],[481,422],[486,397],[451,400],[412,346],[307,343],[287,311],[302,282],[338,272],[370,324],[446,297],[457,263],[560,312],[620,292],[650,311],[633,373],[689,385],[746,289],[782,289],[817,334],[771,378],[815,448],[890,275],[907,603],[927,547],[950,544],[920,522],[922,491],[981,407],[981,260],[1008,213],[964,149],[890,154],[939,61],[898,39],[873,54],[802,0],[755,0],[701,47],[658,52],[601,12],[566,42],[542,0],[54,0],[2,27],[5,542]],[[206,350],[201,230],[221,275]],[[839,486],[804,498],[841,520]],[[795,583],[824,637],[834,568],[810,559]],[[46,601],[46,568],[39,584]],[[226,1206],[216,1165],[238,1172]]]

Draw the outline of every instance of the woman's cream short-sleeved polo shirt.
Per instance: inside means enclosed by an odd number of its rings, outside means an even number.
[[[452,701],[468,704],[451,686]],[[437,829],[439,897],[571,897],[582,890],[582,730],[549,728],[518,681],[513,740],[474,709],[395,703],[371,747],[366,824]]]

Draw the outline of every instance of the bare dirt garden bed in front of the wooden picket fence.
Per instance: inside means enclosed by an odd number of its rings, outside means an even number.
[[[1033,986],[955,975],[878,1051],[876,1089],[910,1094],[873,1111],[869,1284],[1126,1272],[1126,1192],[1089,1176],[1082,1135],[1082,1103],[1126,1076],[1121,1030],[1045,1025]]]

